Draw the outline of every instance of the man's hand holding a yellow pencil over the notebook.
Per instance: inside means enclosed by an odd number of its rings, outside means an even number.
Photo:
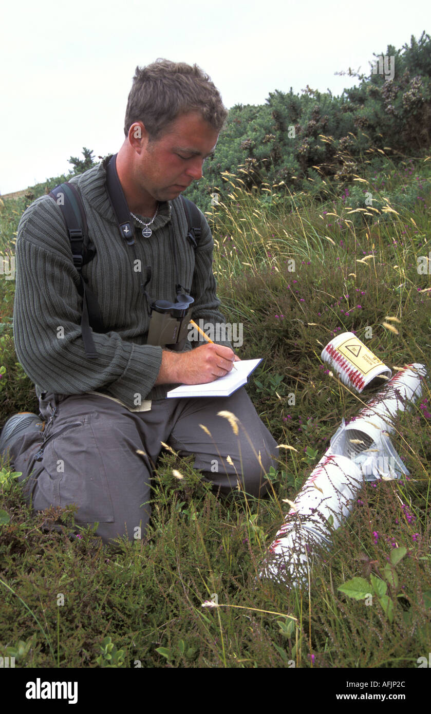
[[[230,347],[208,343],[188,352],[163,350],[161,368],[154,385],[206,384],[230,372],[240,361]]]

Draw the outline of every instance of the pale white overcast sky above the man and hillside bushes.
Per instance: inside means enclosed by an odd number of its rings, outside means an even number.
[[[8,1],[0,27],[0,193],[71,169],[83,146],[116,153],[136,65],[201,66],[223,102],[270,91],[341,94],[373,52],[431,34],[430,0]]]

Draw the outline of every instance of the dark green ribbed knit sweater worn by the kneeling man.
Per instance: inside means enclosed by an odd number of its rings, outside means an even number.
[[[106,191],[106,161],[71,183],[83,202],[88,236],[96,256],[82,268],[96,294],[107,333],[93,332],[98,357],[86,357],[81,335],[80,279],[73,266],[71,247],[61,209],[50,196],[41,196],[24,212],[16,238],[16,291],[14,343],[16,355],[36,395],[43,392],[71,395],[98,391],[136,411],[137,398],[166,397],[171,385],[154,386],[161,367],[162,349],[146,345],[150,318],[141,288],[146,266],[152,277],[147,291],[153,299],[174,301],[176,271],[169,237],[169,221],[176,236],[178,281],[191,287],[192,318],[224,323],[218,311],[212,271],[213,238],[202,216],[202,233],[195,251],[186,239],[187,220],[179,198],[159,204],[151,225],[153,235],[136,231],[135,255],[119,233]],[[140,216],[143,219],[143,216]],[[148,222],[150,218],[146,218]],[[141,228],[134,221],[136,228]],[[230,343],[219,341],[231,347]],[[195,343],[194,346],[197,346]],[[186,348],[192,343],[186,341]],[[148,405],[149,406],[149,405]]]

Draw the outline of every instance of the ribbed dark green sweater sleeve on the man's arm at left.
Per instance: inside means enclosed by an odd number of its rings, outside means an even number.
[[[93,332],[98,357],[86,358],[79,278],[61,236],[61,221],[52,199],[36,201],[21,218],[16,239],[16,355],[36,391],[70,395],[108,385],[112,396],[133,408],[134,394],[146,398],[156,381],[161,348],[125,341],[114,331]],[[127,298],[112,296],[113,301]]]

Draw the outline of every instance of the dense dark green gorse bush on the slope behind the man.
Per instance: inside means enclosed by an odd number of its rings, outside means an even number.
[[[352,181],[372,151],[390,147],[394,160],[421,155],[430,146],[431,38],[414,36],[410,46],[375,54],[385,63],[359,75],[360,84],[340,97],[310,89],[302,94],[270,92],[264,105],[236,105],[220,134],[215,156],[207,159],[203,181],[186,195],[206,210],[211,193],[225,201],[223,171],[243,171],[245,187],[264,182],[279,191],[313,191],[325,197],[328,182]],[[392,61],[390,58],[393,57]],[[343,73],[341,73],[343,74]],[[314,182],[310,186],[309,180]],[[280,186],[281,184],[281,186]]]

